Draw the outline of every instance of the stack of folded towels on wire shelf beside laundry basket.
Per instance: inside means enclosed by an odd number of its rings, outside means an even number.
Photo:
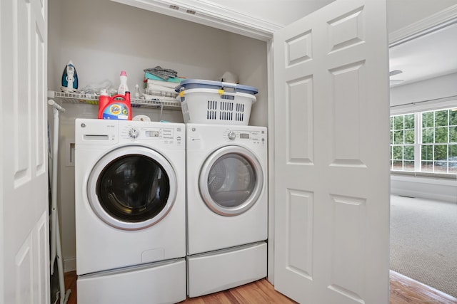
[[[146,68],[144,70],[144,83],[146,100],[170,100],[176,101],[178,93],[174,90],[181,80],[175,70],[161,68]]]

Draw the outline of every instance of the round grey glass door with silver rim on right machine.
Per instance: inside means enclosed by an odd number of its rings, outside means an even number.
[[[223,216],[235,216],[256,204],[263,189],[263,172],[257,157],[243,147],[222,147],[201,168],[201,197]]]

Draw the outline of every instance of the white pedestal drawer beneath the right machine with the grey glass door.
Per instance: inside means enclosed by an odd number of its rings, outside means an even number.
[[[187,258],[189,297],[216,293],[266,277],[266,242]]]

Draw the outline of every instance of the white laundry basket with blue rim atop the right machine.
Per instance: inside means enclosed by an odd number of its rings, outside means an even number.
[[[248,125],[257,89],[211,80],[184,80],[179,87],[184,122]]]

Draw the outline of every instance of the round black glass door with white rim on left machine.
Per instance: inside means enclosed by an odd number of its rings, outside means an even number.
[[[121,147],[101,157],[89,175],[89,204],[115,228],[144,229],[169,213],[176,199],[174,168],[158,152]]]

